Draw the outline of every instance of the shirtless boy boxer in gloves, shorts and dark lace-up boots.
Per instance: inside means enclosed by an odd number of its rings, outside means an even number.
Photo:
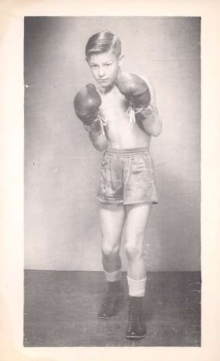
[[[123,55],[117,36],[108,31],[91,36],[86,61],[97,87],[88,84],[77,93],[74,107],[94,147],[104,151],[98,198],[108,293],[98,317],[114,316],[123,301],[119,251],[125,226],[129,290],[125,336],[142,338],[147,279],[143,238],[151,204],[158,202],[149,145],[151,136],[160,135],[162,124],[149,80],[121,71]]]

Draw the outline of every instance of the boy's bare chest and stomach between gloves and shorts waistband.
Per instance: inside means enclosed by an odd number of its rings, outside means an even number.
[[[129,104],[117,86],[108,93],[102,93],[101,89],[97,90],[101,96],[101,110],[107,119],[105,129],[108,148],[149,148],[151,136],[138,123],[130,123],[126,115]]]

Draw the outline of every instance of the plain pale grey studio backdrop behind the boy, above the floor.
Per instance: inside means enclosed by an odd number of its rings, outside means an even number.
[[[147,268],[199,270],[200,19],[129,16],[25,18],[25,268],[101,270],[101,153],[73,97],[93,82],[86,41],[106,29],[121,38],[123,69],[151,77],[163,121]]]

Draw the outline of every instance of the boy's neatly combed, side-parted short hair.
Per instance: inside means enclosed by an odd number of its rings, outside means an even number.
[[[86,58],[92,54],[105,53],[111,50],[119,58],[121,55],[121,40],[111,32],[105,30],[90,36],[86,44]]]

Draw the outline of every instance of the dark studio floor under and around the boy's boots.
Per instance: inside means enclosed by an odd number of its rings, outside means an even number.
[[[114,318],[97,318],[103,272],[26,270],[25,347],[200,346],[200,273],[147,275],[147,336],[134,341],[125,338],[127,299]]]

